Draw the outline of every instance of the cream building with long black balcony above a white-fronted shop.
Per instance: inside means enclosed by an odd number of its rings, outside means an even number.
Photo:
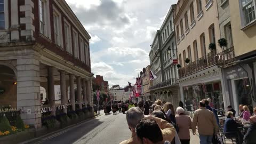
[[[215,55],[221,52],[217,1],[179,0],[174,10],[181,99],[188,111],[198,108],[204,98],[214,108],[225,108],[221,69]],[[209,49],[210,44],[212,48]],[[214,46],[215,45],[215,46]]]

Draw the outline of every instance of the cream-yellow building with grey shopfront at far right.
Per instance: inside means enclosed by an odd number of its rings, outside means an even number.
[[[255,1],[218,1],[221,37],[227,46],[218,54],[222,68],[226,106],[256,107],[256,12]],[[251,11],[252,10],[252,11]],[[249,12],[250,11],[250,12]]]

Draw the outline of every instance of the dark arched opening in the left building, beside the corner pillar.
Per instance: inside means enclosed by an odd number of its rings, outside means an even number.
[[[17,78],[13,69],[0,65],[0,107],[17,108]]]

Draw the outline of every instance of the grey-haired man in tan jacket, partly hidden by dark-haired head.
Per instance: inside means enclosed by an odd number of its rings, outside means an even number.
[[[142,118],[145,118],[145,116],[139,107],[130,108],[126,112],[126,121],[127,121],[130,131],[132,132],[132,137],[128,140],[122,141],[121,144],[126,144],[126,143],[140,144],[140,143],[142,143],[141,140],[137,137],[137,135],[135,133],[135,127],[137,126],[137,124],[140,122],[140,120]],[[175,135],[175,129],[170,123],[168,123],[167,121],[164,121],[161,118],[157,118],[154,116],[147,116],[147,118],[154,119],[156,121],[156,123],[158,124],[159,128],[162,131],[164,141],[165,140],[172,141],[172,139],[174,138],[174,135]]]

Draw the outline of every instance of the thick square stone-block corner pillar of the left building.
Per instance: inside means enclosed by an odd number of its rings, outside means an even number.
[[[39,61],[18,59],[17,69],[17,109],[21,109],[21,118],[25,124],[39,129],[41,124]],[[12,106],[16,107],[16,106]]]

